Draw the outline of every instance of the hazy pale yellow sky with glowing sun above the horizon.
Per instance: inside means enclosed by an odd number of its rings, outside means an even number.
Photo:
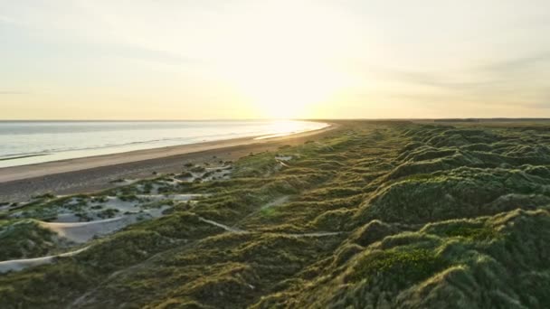
[[[550,117],[547,0],[0,0],[0,119]]]

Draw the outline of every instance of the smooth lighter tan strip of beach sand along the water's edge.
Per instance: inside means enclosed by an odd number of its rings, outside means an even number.
[[[191,145],[176,145],[162,148],[137,150],[112,155],[96,155],[83,158],[75,158],[61,161],[46,162],[41,164],[29,164],[13,167],[0,168],[0,183],[7,183],[16,180],[39,177],[54,173],[67,173],[73,171],[87,170],[100,166],[115,164],[126,164],[151,159],[158,159],[174,155],[185,155],[218,148],[232,147],[237,145],[267,144],[273,141],[282,141],[289,138],[298,138],[317,135],[335,128],[336,125],[329,124],[318,130],[297,133],[289,136],[258,139],[259,136],[234,138],[221,141],[197,143]]]

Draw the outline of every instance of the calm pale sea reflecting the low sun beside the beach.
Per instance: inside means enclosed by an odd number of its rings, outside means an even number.
[[[310,121],[2,121],[0,167],[109,155],[237,137],[286,136]]]

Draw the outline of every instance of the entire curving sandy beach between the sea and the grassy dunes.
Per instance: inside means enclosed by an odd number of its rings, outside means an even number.
[[[141,179],[156,173],[179,173],[186,163],[215,163],[243,155],[276,150],[281,145],[299,145],[316,140],[338,127],[290,136],[257,139],[258,136],[176,145],[113,155],[0,168],[0,201],[25,201],[46,192],[73,194],[95,192],[116,186],[119,179]]]

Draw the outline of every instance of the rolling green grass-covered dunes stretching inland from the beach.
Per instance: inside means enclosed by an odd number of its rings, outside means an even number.
[[[0,274],[0,307],[550,306],[550,125],[347,121],[159,185],[182,169],[3,213],[2,260],[88,249]],[[36,224],[153,189],[199,198],[147,201],[171,208],[84,245]]]

